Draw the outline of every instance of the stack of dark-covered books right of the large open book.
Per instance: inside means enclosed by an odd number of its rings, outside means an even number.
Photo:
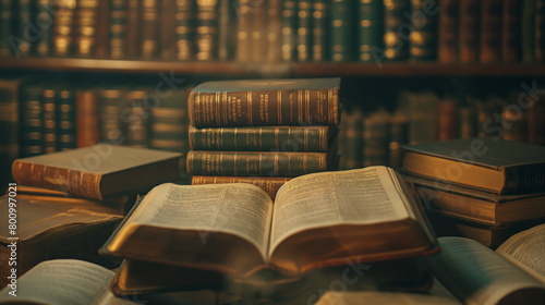
[[[545,222],[545,147],[483,137],[404,149],[403,174],[439,235],[494,248]]]

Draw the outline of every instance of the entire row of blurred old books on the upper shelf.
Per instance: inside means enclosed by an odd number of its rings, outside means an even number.
[[[541,62],[543,8],[543,0],[3,0],[0,54]]]

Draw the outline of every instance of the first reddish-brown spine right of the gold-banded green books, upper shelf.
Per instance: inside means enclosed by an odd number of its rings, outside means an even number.
[[[458,60],[458,0],[440,0],[437,53],[441,62]]]

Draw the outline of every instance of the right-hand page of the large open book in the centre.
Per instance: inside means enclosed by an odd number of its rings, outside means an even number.
[[[372,167],[287,182],[275,203],[269,254],[283,239],[303,230],[408,218],[392,174],[391,169]]]

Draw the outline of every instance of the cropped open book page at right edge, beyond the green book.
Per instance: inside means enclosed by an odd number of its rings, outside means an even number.
[[[514,234],[496,253],[545,283],[545,223]]]

